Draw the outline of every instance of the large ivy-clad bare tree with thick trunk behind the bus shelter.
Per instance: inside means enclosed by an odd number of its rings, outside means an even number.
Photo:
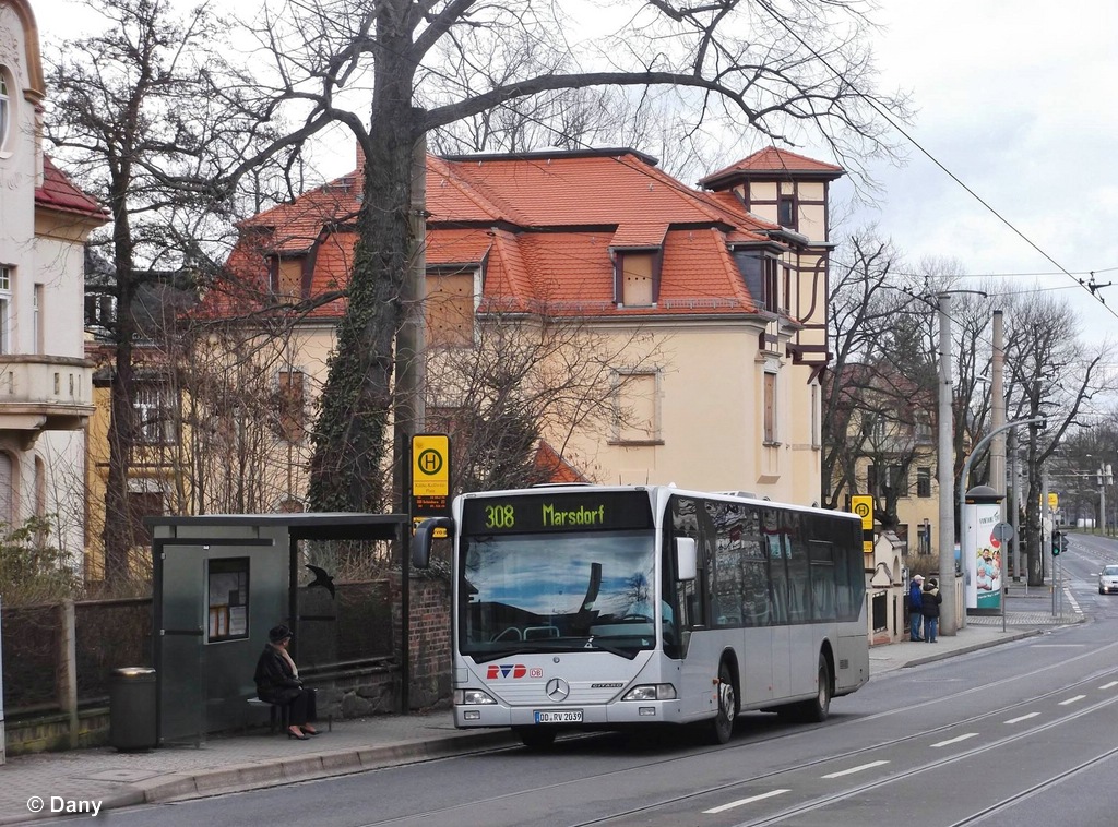
[[[315,429],[313,507],[376,504],[372,481],[394,403],[394,339],[409,312],[400,296],[416,240],[413,150],[423,135],[562,89],[662,87],[689,105],[680,142],[719,121],[792,143],[814,129],[841,162],[860,169],[890,150],[875,107],[906,113],[903,101],[873,89],[858,9],[842,0],[780,8],[655,0],[634,3],[616,30],[580,42],[563,39],[571,29],[558,4],[528,0],[320,0],[267,10],[262,40],[281,86],[273,99],[307,110],[305,125],[283,145],[340,122],[366,158],[361,240]],[[520,65],[511,56],[525,40],[533,59]],[[452,54],[458,68],[446,72]],[[486,79],[481,64],[509,72]]]

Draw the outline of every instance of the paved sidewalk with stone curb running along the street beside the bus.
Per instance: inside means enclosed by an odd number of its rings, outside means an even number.
[[[1018,640],[1082,619],[1073,614],[1054,618],[1044,610],[1050,605],[1033,598],[1012,598],[1006,605],[1005,631],[1002,617],[970,617],[958,634],[940,637],[936,644],[904,641],[871,648],[871,676]],[[337,721],[333,731],[310,741],[271,735],[262,729],[212,736],[199,748],[117,752],[104,747],[21,755],[0,767],[0,825],[35,818],[29,809],[35,806],[32,799],[42,802],[39,817],[57,817],[57,811],[50,812],[53,804],[84,805],[86,811],[96,806],[104,812],[114,807],[341,776],[518,743],[508,730],[456,730],[449,711],[444,710]]]

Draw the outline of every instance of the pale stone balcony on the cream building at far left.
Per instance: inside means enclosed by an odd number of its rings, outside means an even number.
[[[78,430],[93,416],[93,368],[85,359],[0,355],[0,430],[27,445],[45,430]]]

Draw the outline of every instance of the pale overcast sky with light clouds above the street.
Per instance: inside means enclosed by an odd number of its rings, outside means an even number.
[[[72,0],[31,1],[45,39],[74,35],[66,27],[82,16]],[[976,275],[1062,267],[1084,282],[1093,270],[1096,282],[1118,283],[1118,2],[879,0],[873,18],[883,27],[883,88],[911,93],[917,113],[906,131],[928,154],[899,137],[908,164],[873,168],[884,188],[880,208],[854,221],[877,221],[913,265],[937,256]],[[348,165],[351,139],[337,134]],[[1067,275],[998,283],[1069,298],[1092,338],[1118,332],[1118,316]],[[1118,286],[1099,295],[1118,313]]]

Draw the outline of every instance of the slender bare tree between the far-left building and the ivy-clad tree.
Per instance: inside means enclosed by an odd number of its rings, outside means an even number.
[[[104,29],[46,55],[53,91],[46,126],[112,216],[97,244],[111,262],[100,289],[115,304],[100,330],[113,346],[103,531],[105,576],[113,581],[127,572],[127,479],[139,427],[133,354],[152,333],[140,310],[144,294],[169,275],[192,281],[210,269],[211,257],[224,258],[217,236],[227,232],[228,216],[208,209],[210,182],[254,140],[274,135],[267,124],[219,108],[230,96],[214,87],[235,86],[222,59],[228,27],[205,7],[178,16],[169,0],[88,6]]]

